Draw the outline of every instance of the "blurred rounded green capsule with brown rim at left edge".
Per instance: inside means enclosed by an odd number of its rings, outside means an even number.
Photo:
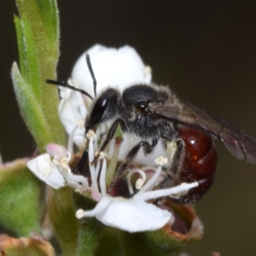
[[[29,172],[28,159],[0,165],[0,220],[19,236],[40,233],[42,183]]]

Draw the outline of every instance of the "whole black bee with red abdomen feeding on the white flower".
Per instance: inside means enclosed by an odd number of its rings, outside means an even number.
[[[86,61],[96,95],[97,82],[88,54]],[[46,83],[76,90],[93,99],[88,93],[68,84],[52,80],[47,80]],[[86,116],[85,132],[106,122],[111,122],[111,126],[100,151],[104,151],[113,139],[118,125],[122,132],[136,134],[140,138],[116,170],[113,184],[128,172],[127,168],[140,148],[148,155],[161,140],[170,164],[160,186],[166,188],[182,182],[199,182],[197,188],[175,199],[179,204],[195,202],[210,188],[217,164],[212,139],[222,141],[237,159],[256,164],[255,138],[227,121],[179,99],[167,86],[134,84],[125,88],[122,93],[115,88],[106,88],[93,100],[90,113]],[[81,172],[87,159],[88,153],[85,150],[76,173]]]

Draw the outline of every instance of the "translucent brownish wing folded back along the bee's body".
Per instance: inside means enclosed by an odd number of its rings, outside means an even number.
[[[163,104],[163,106],[152,104],[148,110],[152,116],[205,132],[212,138],[223,141],[230,153],[237,159],[256,164],[256,139],[227,121],[181,99],[172,104]]]

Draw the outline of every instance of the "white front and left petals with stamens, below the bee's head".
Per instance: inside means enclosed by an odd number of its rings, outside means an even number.
[[[92,163],[95,154],[93,142],[96,135],[90,131],[88,138],[90,139],[88,150],[89,161]],[[91,211],[83,211],[82,209],[79,209],[76,212],[77,218],[95,216],[97,220],[105,225],[117,227],[129,232],[156,230],[163,227],[171,220],[171,212],[148,203],[148,200],[170,195],[177,196],[179,193],[183,193],[184,191],[188,191],[189,189],[198,186],[198,182],[193,182],[191,184],[180,184],[180,186],[169,189],[152,190],[161,173],[162,165],[167,163],[166,157],[158,157],[156,163],[159,167],[157,168],[156,173],[154,173],[146,184],[143,184],[145,182],[145,176],[143,177],[142,186],[136,186],[136,188],[140,188],[138,193],[129,199],[121,196],[113,197],[109,196],[106,191],[107,164],[104,157],[102,158],[101,170],[100,159],[98,160],[96,167],[93,164],[90,164],[92,185],[89,187],[85,177],[71,173],[68,166],[70,154],[65,152],[64,148],[59,145],[49,145],[49,147],[47,147],[47,152],[54,153],[54,155],[47,153],[36,157],[28,163],[28,168],[35,173],[39,179],[55,189],[63,186],[70,186],[80,192],[90,189],[93,198],[98,201],[95,209]],[[58,154],[58,156],[56,154]],[[144,173],[142,170],[134,171]],[[99,186],[97,182],[98,176]],[[129,184],[131,184],[130,179],[131,175],[127,177],[127,182],[129,182]],[[133,194],[131,186],[130,190],[131,194]]]

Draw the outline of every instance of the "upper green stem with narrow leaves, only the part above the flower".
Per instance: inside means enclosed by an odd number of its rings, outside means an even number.
[[[45,79],[56,79],[56,67],[60,55],[58,9],[54,0],[16,0],[16,3],[19,17],[15,17],[14,22],[19,47],[20,83],[13,79],[15,93],[24,92],[22,95],[16,95],[19,108],[29,131],[36,143],[39,143],[40,151],[44,152],[48,143],[66,144],[65,132],[58,117],[57,87],[45,84]],[[24,83],[26,90],[18,89],[20,84]],[[26,93],[29,95],[26,96]],[[32,113],[33,108],[28,111],[29,106],[21,97],[35,98],[37,104],[35,113]],[[39,119],[44,120],[43,126],[47,128],[44,129],[47,131],[45,137],[38,132],[38,128],[34,125],[35,122],[31,124],[38,109],[40,110]],[[31,114],[33,118],[28,116]],[[42,126],[42,122],[39,125]]]

